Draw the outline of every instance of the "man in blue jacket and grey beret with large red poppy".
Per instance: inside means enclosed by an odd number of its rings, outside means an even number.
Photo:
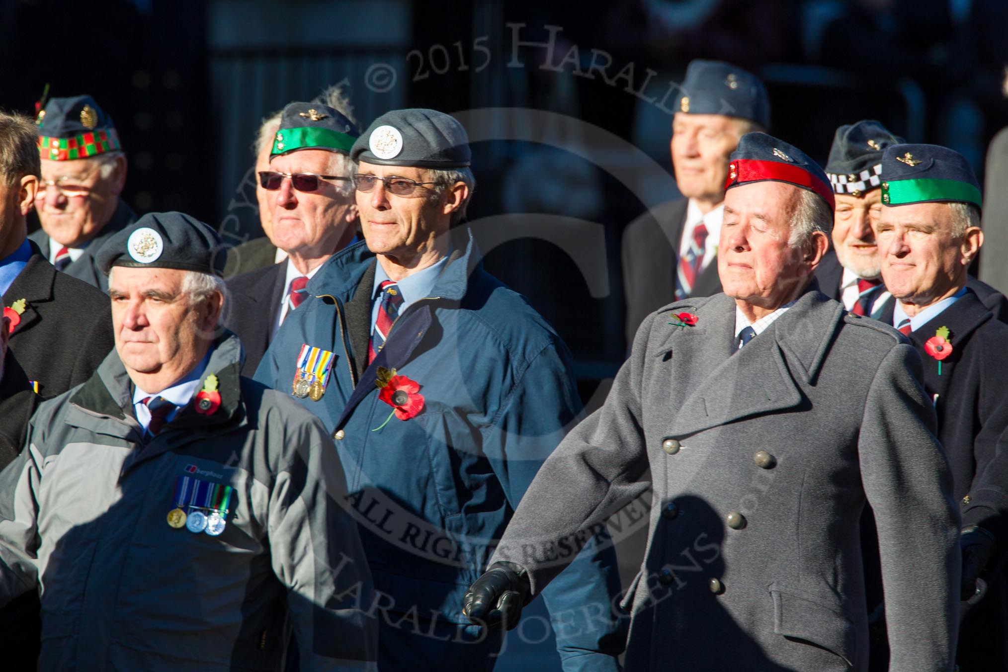
[[[570,355],[483,270],[461,224],[475,180],[458,121],[389,112],[351,158],[365,243],[311,279],[256,379],[337,439],[382,598],[379,667],[490,670],[500,633],[470,625],[463,594],[581,412]],[[596,539],[568,548],[586,550],[545,595],[569,671],[615,670],[622,649],[615,554]]]

